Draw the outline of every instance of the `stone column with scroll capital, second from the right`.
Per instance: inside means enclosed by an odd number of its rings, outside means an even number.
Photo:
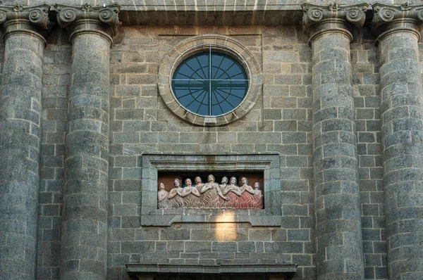
[[[367,4],[303,4],[312,46],[317,279],[364,279],[350,28]]]

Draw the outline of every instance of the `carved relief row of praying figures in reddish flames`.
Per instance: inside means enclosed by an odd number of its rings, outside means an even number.
[[[195,177],[195,186],[190,178],[185,179],[185,188],[180,186],[179,179],[173,180],[173,189],[166,191],[164,184],[159,184],[157,204],[159,209],[176,208],[236,208],[262,209],[263,193],[259,182],[254,189],[248,185],[248,179],[241,177],[242,186],[237,185],[237,179],[223,177],[221,184],[215,182],[212,174],[207,176],[203,184],[200,177]]]

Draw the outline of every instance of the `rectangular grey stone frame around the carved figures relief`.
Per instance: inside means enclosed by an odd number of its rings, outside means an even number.
[[[158,171],[263,171],[264,209],[157,209]],[[249,155],[142,155],[141,225],[171,226],[175,222],[247,222],[281,226],[281,184],[277,153]]]

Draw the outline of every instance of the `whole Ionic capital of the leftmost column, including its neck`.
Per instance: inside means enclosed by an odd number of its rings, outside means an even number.
[[[25,32],[39,37],[47,44],[44,37],[49,27],[49,10],[50,6],[47,4],[33,7],[22,4],[1,6],[0,25],[4,40],[13,33]]]

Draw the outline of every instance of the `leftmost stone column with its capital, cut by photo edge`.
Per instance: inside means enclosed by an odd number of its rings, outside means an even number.
[[[0,279],[35,279],[42,61],[49,6],[0,7]]]

